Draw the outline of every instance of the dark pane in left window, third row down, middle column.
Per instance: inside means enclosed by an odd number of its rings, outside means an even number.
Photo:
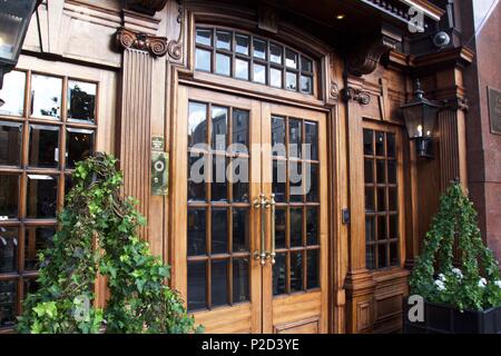
[[[58,177],[28,175],[28,218],[56,218],[57,198]]]

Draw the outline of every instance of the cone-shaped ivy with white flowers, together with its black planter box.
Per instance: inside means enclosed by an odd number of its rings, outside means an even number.
[[[499,264],[483,245],[477,211],[458,181],[440,199],[410,286],[411,295],[424,300],[424,319],[411,322],[405,303],[406,333],[501,333]]]

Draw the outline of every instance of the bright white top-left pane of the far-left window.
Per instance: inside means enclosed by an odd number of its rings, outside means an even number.
[[[0,115],[24,115],[26,72],[12,70],[3,77],[3,89],[0,98],[4,101],[0,107]]]

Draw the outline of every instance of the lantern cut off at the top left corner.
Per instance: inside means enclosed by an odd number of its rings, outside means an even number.
[[[0,0],[0,89],[18,63],[31,14],[41,0]]]

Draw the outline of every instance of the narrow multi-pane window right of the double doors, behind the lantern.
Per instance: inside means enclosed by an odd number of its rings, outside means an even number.
[[[395,134],[364,129],[365,260],[369,269],[399,265]]]

